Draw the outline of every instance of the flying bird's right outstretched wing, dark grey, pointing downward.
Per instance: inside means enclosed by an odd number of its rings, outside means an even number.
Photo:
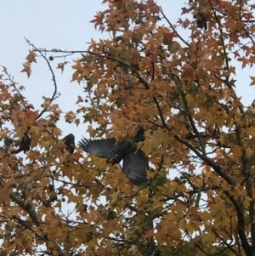
[[[141,149],[128,154],[123,159],[122,170],[134,185],[141,185],[147,181],[147,167],[148,158]]]

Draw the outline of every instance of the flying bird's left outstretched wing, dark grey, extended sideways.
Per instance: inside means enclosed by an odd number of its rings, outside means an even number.
[[[116,139],[82,139],[78,146],[89,154],[107,158],[116,148]]]

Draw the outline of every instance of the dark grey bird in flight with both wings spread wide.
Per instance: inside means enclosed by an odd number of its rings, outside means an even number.
[[[94,156],[106,158],[112,165],[123,160],[122,170],[134,185],[147,181],[146,168],[148,158],[141,149],[137,149],[139,141],[144,141],[144,129],[139,128],[133,139],[126,138],[120,142],[116,139],[82,139],[78,145],[82,151]]]

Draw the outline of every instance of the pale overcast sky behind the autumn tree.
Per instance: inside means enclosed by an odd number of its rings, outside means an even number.
[[[173,24],[177,23],[178,18],[185,18],[180,16],[184,1],[159,0],[157,3],[161,5]],[[32,64],[32,74],[29,79],[26,77],[26,73],[20,73],[22,63],[25,62],[30,48],[24,37],[38,48],[85,50],[88,48],[87,43],[92,38],[98,40],[100,37],[107,37],[107,33],[102,35],[99,31],[95,31],[94,25],[89,22],[97,11],[104,10],[105,7],[100,0],[2,1],[0,65],[8,68],[8,71],[14,75],[15,82],[20,82],[25,86],[24,94],[31,104],[39,107],[42,103],[42,95],[51,96],[54,88],[48,66],[43,60],[37,59],[37,64]],[[189,33],[190,31],[181,30],[181,34],[186,40],[189,39]],[[54,60],[53,66],[60,61],[62,60]],[[82,94],[82,84],[70,82],[71,68],[66,68],[63,75],[59,69],[56,69],[55,75],[61,94],[57,103],[64,111],[75,109],[77,95]],[[240,70],[238,75],[238,92],[240,96],[244,97],[246,104],[249,104],[253,100],[254,90],[248,86],[250,83],[248,75],[254,76],[254,72],[250,70],[248,74],[247,71]],[[82,96],[85,95],[82,94]],[[85,132],[87,128],[84,125],[77,128],[75,124],[66,123],[64,118],[60,119],[59,127],[64,134],[74,133],[76,140],[87,136]]]

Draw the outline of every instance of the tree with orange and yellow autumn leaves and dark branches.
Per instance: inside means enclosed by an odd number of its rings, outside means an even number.
[[[104,3],[108,9],[92,22],[110,39],[92,40],[84,51],[28,42],[23,71],[30,76],[41,55],[53,76],[42,110],[3,70],[1,253],[255,255],[255,105],[242,102],[236,88],[243,77],[235,78],[235,66],[255,61],[255,5],[190,1],[187,18],[178,20],[190,33],[184,38],[153,0]],[[90,137],[116,140],[144,128],[138,146],[150,160],[147,184],[130,186],[120,166],[78,148],[59,150],[48,53],[81,54],[72,81],[85,82],[84,94],[68,122],[82,119]],[[250,78],[244,89],[255,84]],[[66,202],[75,206],[67,216]]]

